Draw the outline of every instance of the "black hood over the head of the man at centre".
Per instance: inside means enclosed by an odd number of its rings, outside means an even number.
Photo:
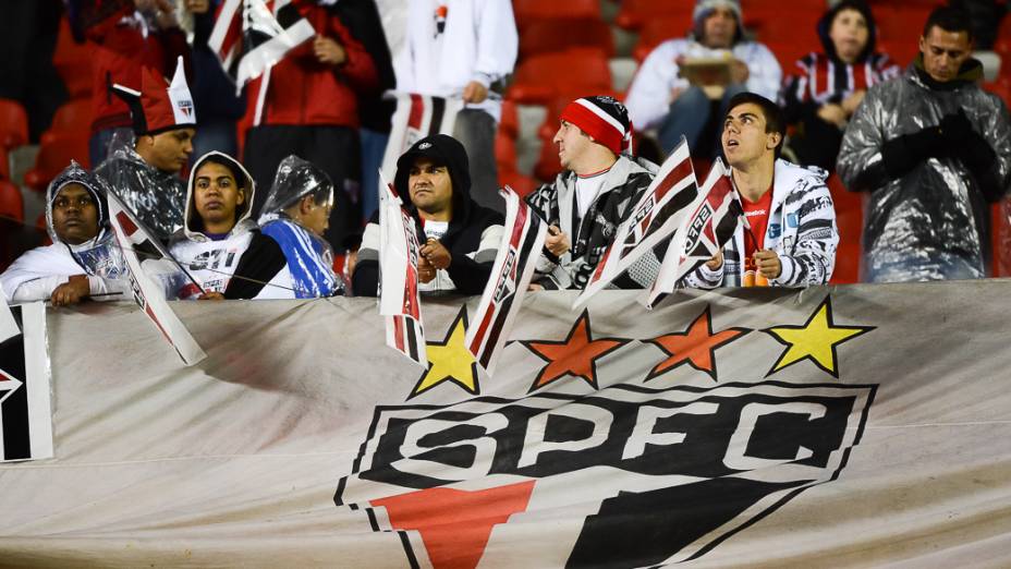
[[[446,134],[426,136],[407,148],[407,152],[397,159],[397,175],[393,178],[393,187],[405,205],[411,203],[411,193],[407,190],[411,168],[414,161],[422,157],[444,165],[449,170],[449,179],[453,183],[453,221],[465,222],[472,209],[471,170],[466,149],[459,141]],[[413,205],[409,205],[409,208],[412,211],[416,209]]]

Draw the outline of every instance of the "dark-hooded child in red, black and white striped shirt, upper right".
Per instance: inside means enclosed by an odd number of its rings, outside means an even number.
[[[863,0],[843,0],[818,22],[823,53],[796,62],[780,94],[787,124],[795,132],[787,141],[804,166],[836,168],[842,132],[867,88],[899,76],[900,69],[875,52],[877,28]]]

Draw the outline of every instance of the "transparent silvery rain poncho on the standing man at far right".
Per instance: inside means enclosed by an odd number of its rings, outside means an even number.
[[[839,153],[837,169],[846,187],[870,192],[863,249],[865,280],[872,282],[985,277],[987,196],[997,199],[1011,185],[1011,123],[1003,101],[974,81],[929,85],[918,64],[867,92]],[[950,143],[945,155],[925,157],[898,178],[887,173],[887,142],[939,126],[960,110],[996,155],[986,171],[971,171]]]

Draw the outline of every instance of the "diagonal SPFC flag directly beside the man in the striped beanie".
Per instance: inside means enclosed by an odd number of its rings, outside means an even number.
[[[618,227],[614,241],[604,253],[583,292],[572,303],[572,308],[585,305],[590,296],[670,237],[697,196],[695,168],[687,141],[682,136],[681,144],[663,161],[653,183]]]

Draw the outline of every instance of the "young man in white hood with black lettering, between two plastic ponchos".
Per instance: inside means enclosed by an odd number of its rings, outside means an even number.
[[[196,160],[186,195],[186,223],[169,243],[188,275],[166,271],[168,298],[291,298],[290,290],[275,292],[280,282],[271,282],[277,271],[270,267],[277,259],[283,265],[284,254],[249,219],[254,189],[253,178],[231,156],[212,152]]]

